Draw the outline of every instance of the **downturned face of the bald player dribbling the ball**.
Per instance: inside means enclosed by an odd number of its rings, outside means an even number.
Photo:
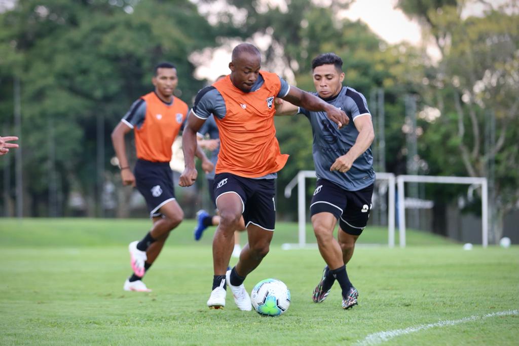
[[[248,92],[260,75],[261,57],[242,53],[235,61],[229,63],[230,79],[238,89]]]

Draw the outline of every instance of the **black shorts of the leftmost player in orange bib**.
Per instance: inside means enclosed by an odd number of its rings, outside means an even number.
[[[146,199],[149,217],[161,216],[160,207],[175,200],[173,171],[169,162],[138,159],[133,172],[137,189]]]

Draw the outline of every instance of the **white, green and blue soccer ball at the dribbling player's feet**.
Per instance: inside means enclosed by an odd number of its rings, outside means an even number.
[[[290,306],[290,290],[282,281],[268,278],[254,286],[251,301],[258,314],[279,316]]]

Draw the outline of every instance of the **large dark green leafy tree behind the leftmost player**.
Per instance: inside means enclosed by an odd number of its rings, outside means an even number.
[[[97,153],[105,152],[102,168],[112,167],[110,132],[152,89],[153,66],[175,63],[177,91],[190,103],[203,84],[188,56],[215,44],[212,26],[187,0],[20,0],[0,16],[0,28],[1,70],[22,85],[24,181],[35,216],[46,214],[49,179],[61,182],[64,197],[80,190],[94,215],[104,179]]]

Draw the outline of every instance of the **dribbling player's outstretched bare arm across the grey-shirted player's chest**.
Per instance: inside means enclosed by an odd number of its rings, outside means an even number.
[[[328,118],[337,124],[339,128],[342,128],[349,123],[349,119],[344,111],[339,110],[317,96],[313,96],[309,92],[303,91],[294,86],[290,86],[289,93],[286,94],[285,97],[282,97],[282,99],[296,106],[304,107],[309,111],[326,112]]]

